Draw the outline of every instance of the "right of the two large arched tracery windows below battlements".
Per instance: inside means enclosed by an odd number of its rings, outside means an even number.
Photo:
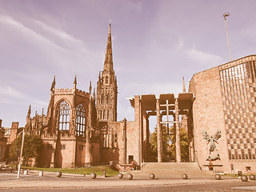
[[[85,135],[86,130],[86,109],[80,103],[76,108],[76,132],[77,135]]]

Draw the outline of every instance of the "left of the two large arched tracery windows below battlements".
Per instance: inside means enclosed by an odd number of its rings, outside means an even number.
[[[66,101],[58,104],[58,129],[64,131],[70,130],[70,105]]]

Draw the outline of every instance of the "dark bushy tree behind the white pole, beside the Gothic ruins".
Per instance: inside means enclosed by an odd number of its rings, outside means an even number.
[[[22,134],[11,143],[10,158],[17,160],[22,146]],[[39,135],[25,134],[24,146],[22,152],[23,165],[27,165],[30,158],[37,161],[42,150],[42,138]]]

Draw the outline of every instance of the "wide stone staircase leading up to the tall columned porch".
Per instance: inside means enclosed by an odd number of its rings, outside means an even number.
[[[181,178],[187,174],[189,178],[212,178],[213,172],[201,170],[197,162],[144,162],[141,170],[131,170],[134,177],[148,178],[155,174],[156,178]]]

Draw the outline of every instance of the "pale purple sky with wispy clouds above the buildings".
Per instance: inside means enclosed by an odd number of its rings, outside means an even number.
[[[182,92],[193,74],[255,53],[254,0],[0,0],[0,118],[25,126],[46,113],[50,86],[96,87],[111,21],[118,120],[134,120],[127,97]]]

